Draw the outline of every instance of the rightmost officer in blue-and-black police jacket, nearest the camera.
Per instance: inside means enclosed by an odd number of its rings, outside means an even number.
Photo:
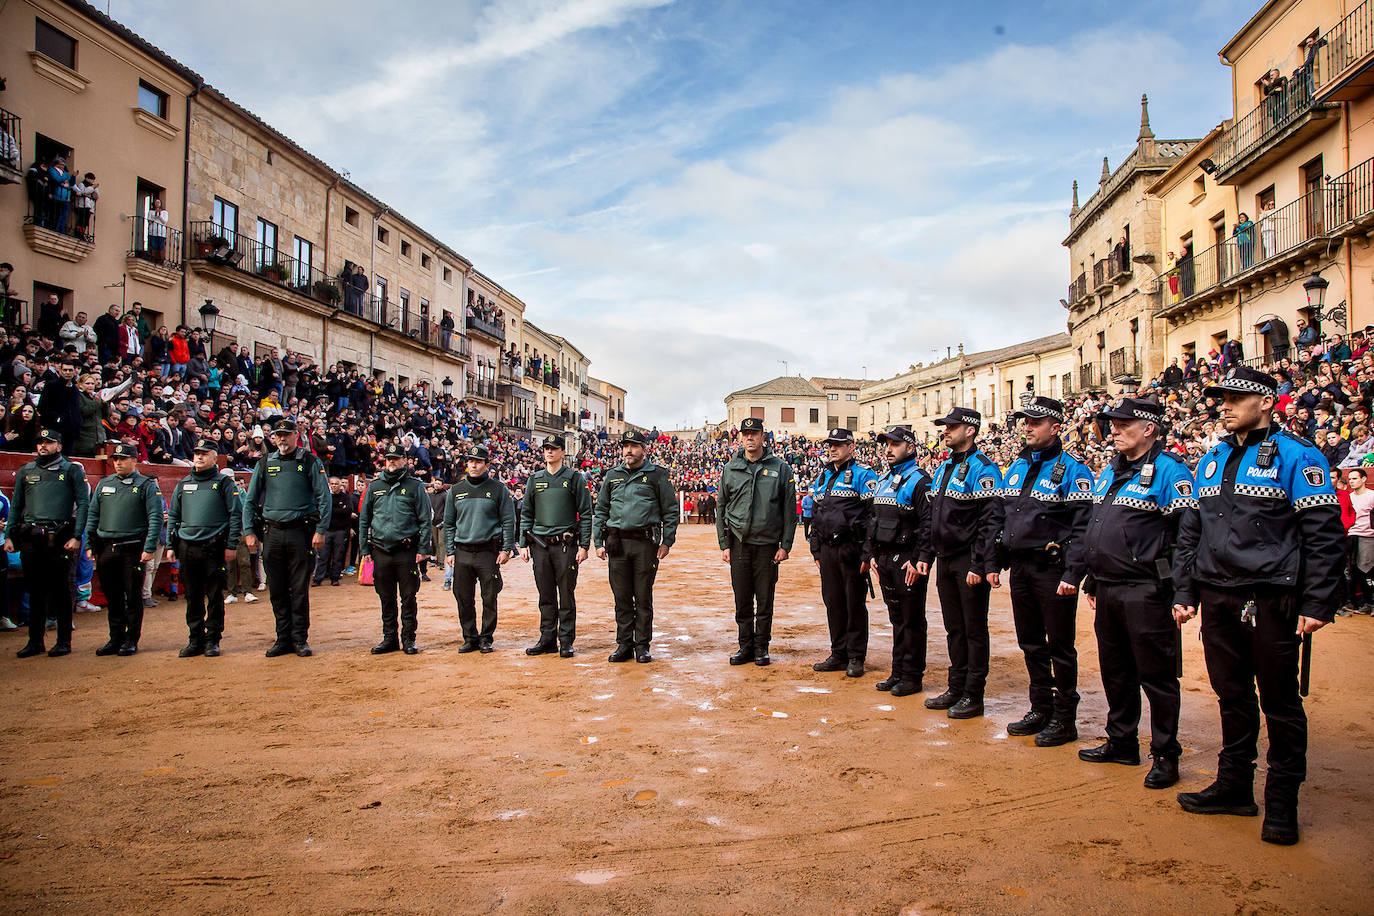
[[[1272,376],[1245,367],[1205,390],[1221,398],[1230,435],[1198,464],[1198,512],[1179,534],[1193,552],[1191,586],[1179,591],[1173,615],[1182,625],[1202,607],[1221,753],[1216,781],[1180,794],[1179,805],[1195,814],[1259,813],[1253,784],[1263,707],[1270,770],[1260,836],[1290,846],[1298,840],[1297,795],[1307,777],[1298,652],[1341,603],[1344,529],[1326,459],[1274,426],[1275,391]]]

